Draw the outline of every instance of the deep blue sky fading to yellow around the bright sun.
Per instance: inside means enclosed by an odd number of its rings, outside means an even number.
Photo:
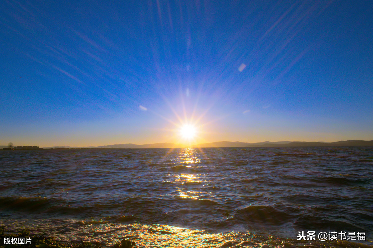
[[[373,140],[372,30],[372,1],[1,1],[0,143]]]

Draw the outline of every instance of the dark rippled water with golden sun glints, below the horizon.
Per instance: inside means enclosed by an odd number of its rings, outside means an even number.
[[[139,247],[348,247],[373,239],[373,147],[0,152],[0,224]],[[356,247],[360,247],[357,245]]]

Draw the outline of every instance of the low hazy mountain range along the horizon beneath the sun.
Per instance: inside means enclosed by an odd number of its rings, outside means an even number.
[[[213,143],[203,143],[194,145],[192,147],[294,147],[294,146],[373,146],[373,140],[341,140],[337,142],[301,142],[301,141],[279,141],[279,142],[230,142],[230,141],[219,141]],[[2,146],[0,146],[1,148]],[[7,147],[7,146],[3,146]],[[44,147],[44,149],[54,148],[173,148],[173,147],[184,147],[181,144],[174,143],[155,143],[155,144],[114,144],[108,146],[86,146],[86,147],[72,147],[72,146],[53,146]]]

